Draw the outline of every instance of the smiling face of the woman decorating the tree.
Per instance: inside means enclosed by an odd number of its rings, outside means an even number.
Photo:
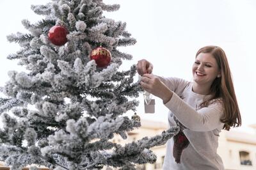
[[[220,76],[216,59],[209,53],[200,53],[196,56],[192,66],[193,80],[197,84],[211,86],[214,79]]]

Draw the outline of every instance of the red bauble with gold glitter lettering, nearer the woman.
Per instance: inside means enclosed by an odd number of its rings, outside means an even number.
[[[98,47],[97,49],[92,50],[90,58],[95,60],[97,66],[103,68],[109,65],[111,61],[111,53],[103,47]]]

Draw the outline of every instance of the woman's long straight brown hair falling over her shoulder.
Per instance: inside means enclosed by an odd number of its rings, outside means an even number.
[[[209,45],[202,47],[196,53],[196,56],[200,53],[209,53],[216,59],[218,67],[221,72],[221,77],[216,77],[211,85],[212,97],[205,100],[201,106],[207,107],[214,99],[220,99],[224,108],[224,115],[220,119],[222,123],[225,123],[223,129],[229,130],[230,127],[241,126],[241,114],[236,100],[236,93],[232,81],[230,68],[228,66],[227,56],[223,49],[217,46]]]

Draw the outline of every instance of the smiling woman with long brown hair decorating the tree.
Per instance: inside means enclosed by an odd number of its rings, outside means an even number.
[[[221,129],[241,126],[230,68],[225,52],[206,46],[196,53],[193,82],[153,75],[153,65],[138,61],[141,86],[163,100],[170,126],[179,134],[167,142],[164,170],[224,169],[217,154]]]

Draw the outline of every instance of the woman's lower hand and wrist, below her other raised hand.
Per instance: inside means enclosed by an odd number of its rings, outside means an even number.
[[[173,92],[156,75],[150,73],[143,74],[140,84],[148,93],[161,98],[164,104],[172,98]]]

